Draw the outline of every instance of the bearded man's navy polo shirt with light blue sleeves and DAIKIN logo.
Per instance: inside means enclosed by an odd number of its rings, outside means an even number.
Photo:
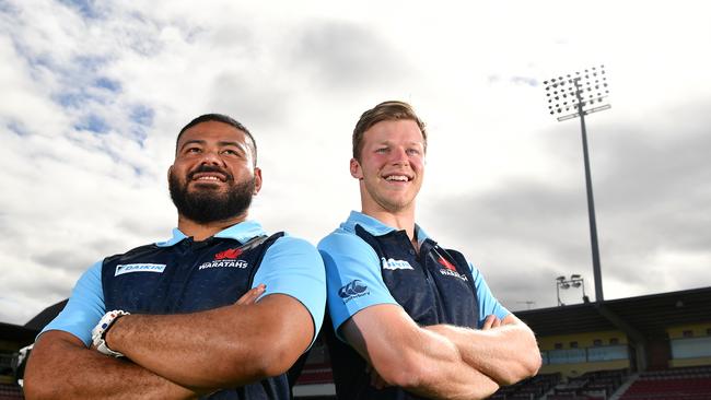
[[[110,309],[137,314],[193,313],[234,304],[264,283],[263,296],[281,293],[311,313],[314,338],[324,317],[323,261],[313,245],[283,233],[267,236],[253,221],[195,242],[178,230],[168,240],[96,262],[78,281],[65,309],[44,329],[67,331],[91,344],[91,330]],[[240,327],[234,327],[238,332]],[[285,374],[210,399],[290,399]]]

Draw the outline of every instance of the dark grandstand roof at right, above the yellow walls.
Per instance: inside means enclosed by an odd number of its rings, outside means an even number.
[[[645,337],[674,326],[711,321],[711,287],[627,297],[602,303],[516,311],[537,336],[630,328]]]

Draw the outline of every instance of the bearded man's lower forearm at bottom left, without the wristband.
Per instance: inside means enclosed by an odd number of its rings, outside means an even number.
[[[25,372],[27,399],[195,399],[198,393],[62,331],[43,333]]]

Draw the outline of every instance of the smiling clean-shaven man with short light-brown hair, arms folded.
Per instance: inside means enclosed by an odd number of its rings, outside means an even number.
[[[339,399],[479,399],[540,366],[531,329],[415,223],[426,152],[406,103],[378,104],[353,130],[362,211],[318,244]]]

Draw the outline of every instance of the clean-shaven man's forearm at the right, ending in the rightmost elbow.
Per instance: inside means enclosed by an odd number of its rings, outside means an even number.
[[[523,322],[488,330],[438,325],[426,329],[438,332],[459,349],[463,360],[499,385],[512,385],[536,374],[540,352],[536,339]]]

